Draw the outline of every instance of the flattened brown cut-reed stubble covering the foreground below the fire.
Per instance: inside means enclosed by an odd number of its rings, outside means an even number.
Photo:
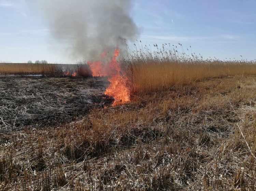
[[[1,190],[255,190],[256,76],[191,82],[1,134]]]

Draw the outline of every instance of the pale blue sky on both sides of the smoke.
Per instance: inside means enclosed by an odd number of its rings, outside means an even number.
[[[0,0],[0,62],[74,63],[28,2]],[[204,58],[256,58],[256,0],[134,0],[133,5],[143,44],[181,43]]]

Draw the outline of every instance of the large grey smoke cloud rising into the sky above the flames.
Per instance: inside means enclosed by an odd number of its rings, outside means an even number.
[[[100,58],[111,55],[138,37],[130,17],[132,0],[38,0],[52,36],[68,44],[74,58]]]

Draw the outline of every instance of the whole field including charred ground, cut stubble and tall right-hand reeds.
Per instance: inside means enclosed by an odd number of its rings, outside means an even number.
[[[1,190],[255,190],[256,65],[142,61],[115,107],[101,77],[1,77]]]

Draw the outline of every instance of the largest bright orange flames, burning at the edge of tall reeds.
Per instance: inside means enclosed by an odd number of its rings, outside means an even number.
[[[130,101],[130,91],[127,88],[127,77],[122,74],[120,63],[117,61],[117,57],[120,53],[119,49],[114,52],[113,58],[107,63],[102,62],[87,62],[91,68],[93,76],[108,76],[110,85],[106,88],[105,95],[109,95],[115,99],[112,106],[117,106]],[[100,56],[103,59],[107,55],[104,51]]]

